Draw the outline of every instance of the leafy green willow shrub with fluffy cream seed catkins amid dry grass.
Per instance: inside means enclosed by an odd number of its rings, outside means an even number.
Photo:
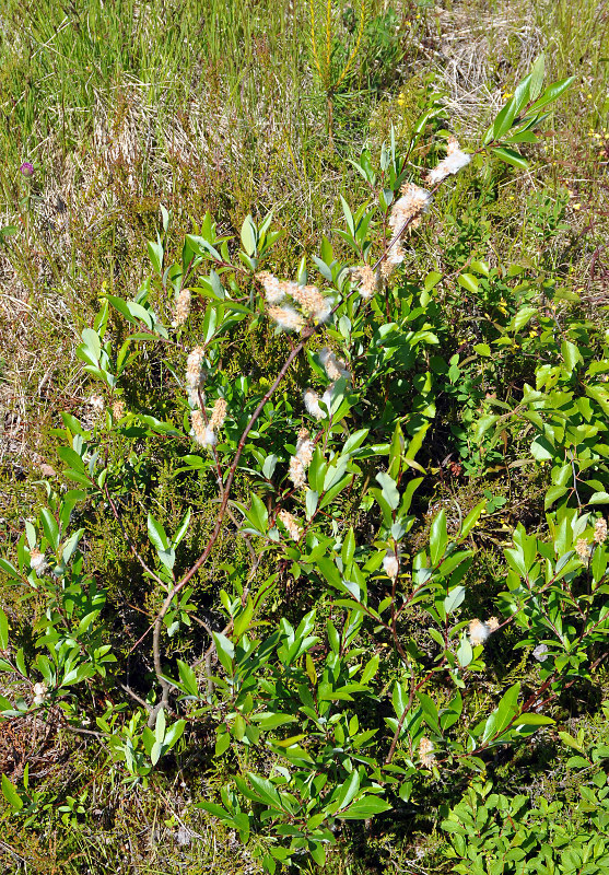
[[[403,270],[442,186],[496,161],[527,166],[520,144],[536,142],[546,108],[571,84],[542,81],[540,58],[480,147],[466,151],[449,136],[435,166],[413,172],[394,138],[378,162],[364,151],[355,170],[368,199],[351,207],[342,197],[340,244],[325,237],[286,279],[271,269],[281,236],[272,213],[247,215],[238,241],[208,213],[174,254],[162,207],[152,276],[131,300],[106,292],[82,331],[78,357],[96,388],[91,417],[61,411],[55,431],[66,488],[46,486],[14,561],[0,561],[36,605],[32,641],[17,648],[0,611],[0,670],[14,687],[0,699],[2,718],[36,710],[93,733],[113,780],[128,788],[149,785],[173,755],[213,735],[225,780],[219,797],[197,804],[251,842],[268,872],[323,865],[346,822],[417,801],[424,778],[483,771],[490,754],[551,725],[550,703],[602,658],[607,526],[594,508],[607,493],[592,438],[606,428],[596,374],[607,354],[597,330],[559,324],[557,334],[549,282],[469,259],[458,271],[464,308],[503,307],[504,318],[477,328],[487,334],[473,360],[443,358],[455,341],[443,275]],[[511,405],[497,396],[502,369],[534,323],[526,342],[537,345],[538,385]],[[195,346],[184,339],[191,325]],[[234,353],[235,338],[259,331],[268,377]],[[138,404],[144,369],[154,393]],[[461,375],[471,404],[457,394]],[[499,499],[465,512],[456,501],[456,516],[443,506],[419,525],[430,444],[446,424],[436,416],[448,404],[453,451],[472,470],[496,462],[510,430],[518,453],[552,466],[547,530],[511,533],[505,588],[484,612],[467,582],[476,526]],[[184,495],[177,521],[154,479],[136,470],[144,453]],[[213,494],[212,518],[198,518],[198,493]],[[133,505],[144,509],[147,541]],[[127,648],[87,567],[107,518],[143,583],[148,628]],[[245,560],[236,546],[218,558],[227,538],[246,544]],[[211,605],[198,592],[206,572]],[[121,586],[131,594],[128,575]],[[303,593],[315,607],[301,610]],[[507,634],[536,654],[536,682],[505,685],[480,714],[469,689]],[[19,786],[3,775],[2,788],[25,822],[50,804],[27,775]],[[84,801],[67,798],[66,824]]]

